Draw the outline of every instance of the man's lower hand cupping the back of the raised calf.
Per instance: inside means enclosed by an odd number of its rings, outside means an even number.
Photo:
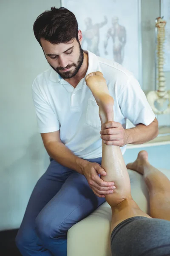
[[[104,198],[105,195],[113,193],[113,189],[116,189],[114,182],[103,181],[99,177],[99,174],[102,176],[106,176],[107,174],[98,163],[88,162],[84,166],[82,173],[85,175],[94,194],[100,198]]]

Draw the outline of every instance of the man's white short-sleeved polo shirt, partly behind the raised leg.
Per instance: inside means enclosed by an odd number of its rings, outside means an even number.
[[[87,73],[101,71],[114,99],[114,121],[126,128],[126,119],[134,125],[149,125],[155,115],[139,82],[122,65],[88,53]],[[99,107],[83,78],[76,88],[52,68],[37,76],[32,86],[40,133],[60,130],[60,139],[75,155],[84,159],[102,157]],[[125,146],[121,147],[122,154]]]

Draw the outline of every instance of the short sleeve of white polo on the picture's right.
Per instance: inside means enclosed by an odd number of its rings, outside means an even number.
[[[139,82],[133,76],[130,77],[122,90],[119,97],[119,106],[123,115],[129,119],[133,125],[138,125],[139,123],[150,125],[155,119],[155,114]]]

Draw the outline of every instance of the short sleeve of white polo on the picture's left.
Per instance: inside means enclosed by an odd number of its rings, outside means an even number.
[[[59,130],[59,120],[51,106],[40,91],[36,79],[32,85],[32,97],[35,106],[37,125],[40,133],[48,133]]]

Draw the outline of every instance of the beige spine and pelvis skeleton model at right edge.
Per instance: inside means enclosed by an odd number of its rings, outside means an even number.
[[[170,113],[170,91],[166,90],[165,77],[164,77],[164,40],[165,40],[165,25],[166,21],[163,17],[156,19],[156,29],[157,29],[157,57],[158,57],[158,90],[150,91],[147,94],[147,100],[150,103],[151,108],[155,114],[168,114]],[[164,103],[167,102],[168,105],[165,110],[161,110]],[[157,103],[157,105],[155,105]]]

